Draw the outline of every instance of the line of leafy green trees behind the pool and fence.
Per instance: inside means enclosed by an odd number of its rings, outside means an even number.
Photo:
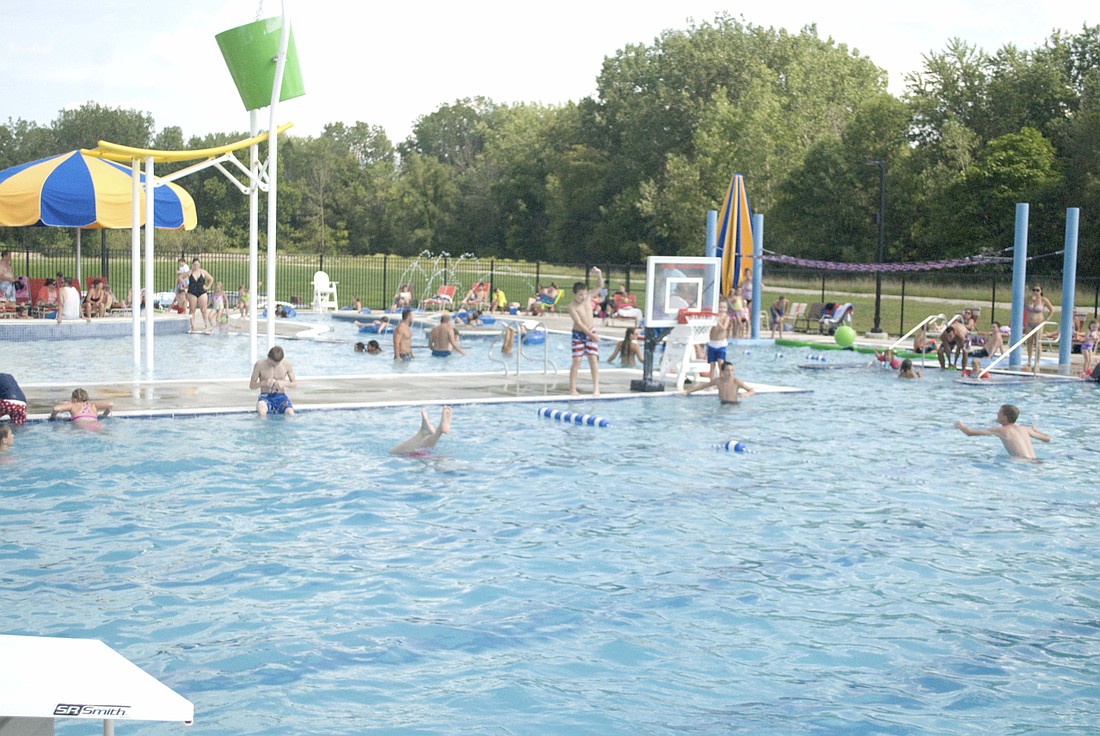
[[[884,171],[887,261],[1009,248],[1014,205],[1027,201],[1032,252],[1059,249],[1066,208],[1081,209],[1079,271],[1100,275],[1100,26],[1054,31],[1032,50],[948,40],[897,97],[872,59],[814,25],[792,33],[721,14],[607,56],[596,88],[562,106],[457,100],[400,143],[369,122],[292,129],[279,144],[280,248],[559,263],[698,255],[705,211],[739,173],[770,250],[868,262]],[[0,167],[100,139],[200,149],[243,138],[185,141],[148,113],[88,102],[50,125],[9,119]],[[200,223],[185,248],[246,244],[231,183],[208,169],[182,184]],[[0,229],[0,240],[65,238],[48,230]]]

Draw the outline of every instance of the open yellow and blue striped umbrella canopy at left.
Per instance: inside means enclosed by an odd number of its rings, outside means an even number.
[[[154,182],[154,226],[191,230],[195,200],[176,184]],[[70,151],[0,172],[0,226],[130,228],[131,171],[114,162]],[[145,175],[141,174],[141,222],[145,224]]]

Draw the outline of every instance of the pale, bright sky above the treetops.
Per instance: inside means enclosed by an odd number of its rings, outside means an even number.
[[[215,41],[282,12],[272,0],[0,0],[0,121],[48,125],[92,101],[153,116],[191,135],[246,131],[244,110]],[[904,76],[952,37],[987,52],[1034,48],[1060,29],[1100,23],[1094,0],[285,0],[306,95],[278,122],[318,135],[327,123],[382,125],[395,143],[416,119],[466,97],[561,105],[595,95],[603,59],[652,45],[690,19],[728,12],[798,32],[816,24],[870,57],[904,91]],[[267,125],[267,111],[261,127]],[[128,141],[114,141],[128,144]],[[87,145],[94,145],[89,141]]]

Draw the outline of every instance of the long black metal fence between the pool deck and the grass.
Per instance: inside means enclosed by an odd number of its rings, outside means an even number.
[[[156,290],[170,292],[175,285],[178,259],[190,262],[199,257],[204,267],[220,281],[226,292],[233,294],[249,283],[249,256],[240,252],[219,253],[157,253],[154,263]],[[314,274],[323,271],[337,282],[342,306],[351,305],[355,297],[364,306],[383,308],[393,303],[403,284],[411,285],[416,300],[436,296],[440,286],[455,287],[455,298],[461,300],[477,282],[488,282],[491,289],[504,290],[508,301],[526,306],[539,285],[556,284],[569,289],[574,282],[588,283],[591,264],[550,264],[543,262],[479,259],[470,255],[451,256],[421,253],[418,256],[399,255],[322,255],[286,253],[276,255],[277,299],[292,304],[308,304],[312,298]],[[18,275],[46,278],[62,272],[66,276],[105,277],[117,295],[127,293],[130,284],[130,251],[102,249],[96,245],[85,251],[79,268],[74,250],[14,251],[12,265]],[[607,288],[614,290],[623,284],[634,294],[642,295],[646,284],[645,264],[596,264],[603,270]],[[261,251],[258,279],[261,293],[266,278],[266,254]],[[763,270],[765,298],[780,288],[793,287],[806,295],[806,300],[838,301],[844,294],[858,294],[864,298],[875,292],[875,277],[811,268],[773,267]],[[142,276],[144,282],[144,275]],[[1028,282],[1046,285],[1047,295],[1055,305],[1060,304],[1062,272],[1050,267],[1034,268]],[[788,289],[789,290],[789,289]],[[890,299],[900,298],[900,315],[890,309],[891,319],[898,323],[883,323],[887,330],[904,328],[925,316],[921,303],[931,300],[959,300],[974,306],[988,305],[986,319],[1008,319],[1004,305],[1012,298],[1012,274],[1005,266],[985,270],[953,270],[911,272],[882,276],[882,293]],[[1100,315],[1100,278],[1078,277],[1076,286],[1078,310],[1087,309],[1092,317]],[[793,294],[788,294],[793,296]],[[792,299],[795,300],[795,299]],[[639,298],[639,303],[641,299]],[[866,308],[860,310],[866,319]]]

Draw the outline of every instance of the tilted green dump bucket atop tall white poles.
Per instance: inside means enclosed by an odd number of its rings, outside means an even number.
[[[272,87],[275,85],[275,57],[278,56],[279,36],[283,33],[282,18],[264,20],[222,31],[217,36],[218,47],[226,58],[226,66],[233,77],[237,91],[245,110],[258,110],[272,103]],[[289,100],[306,94],[301,83],[301,67],[298,66],[298,50],[294,45],[294,30],[290,30],[283,67],[283,89],[279,100]]]

